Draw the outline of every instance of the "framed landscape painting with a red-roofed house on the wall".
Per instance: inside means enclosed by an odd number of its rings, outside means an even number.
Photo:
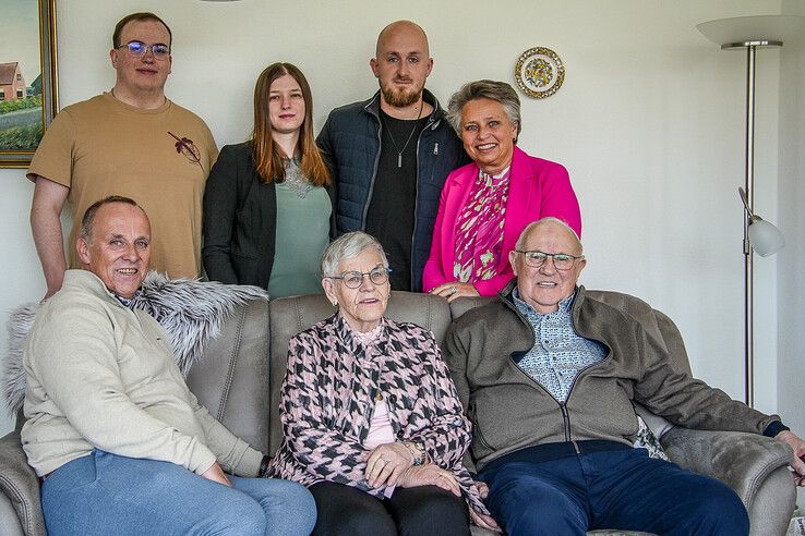
[[[0,168],[27,168],[58,110],[56,0],[0,4]]]

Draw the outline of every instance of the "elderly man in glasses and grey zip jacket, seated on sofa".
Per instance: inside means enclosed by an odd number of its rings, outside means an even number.
[[[688,428],[762,434],[786,442],[795,479],[805,442],[688,374],[640,319],[577,287],[581,243],[563,221],[529,224],[509,254],[516,280],[458,318],[445,360],[472,422],[471,461],[486,505],[509,536],[632,529],[747,534],[746,510],[726,485],[632,447],[633,403]]]

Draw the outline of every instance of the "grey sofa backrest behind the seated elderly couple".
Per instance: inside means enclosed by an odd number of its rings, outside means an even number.
[[[689,374],[682,336],[662,313],[623,294],[587,291],[642,322],[648,333],[668,348],[677,370]],[[392,292],[387,316],[433,331],[441,343],[450,321],[490,297],[461,297],[449,306],[431,294]],[[632,309],[628,309],[632,304]],[[290,338],[335,313],[324,295],[293,296],[269,304],[254,301],[239,307],[188,375],[188,385],[209,412],[255,449],[274,454],[283,440],[279,391],[285,378]],[[641,411],[641,410],[640,410]],[[642,415],[642,411],[641,411]],[[644,416],[647,422],[651,416]],[[659,417],[653,417],[659,419]],[[658,437],[670,425],[649,422]]]

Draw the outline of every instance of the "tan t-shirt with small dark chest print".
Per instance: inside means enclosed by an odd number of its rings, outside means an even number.
[[[59,112],[27,176],[70,188],[70,268],[80,267],[75,239],[86,209],[108,195],[123,195],[151,219],[152,268],[170,278],[194,278],[201,272],[204,183],[217,156],[213,134],[191,111],[167,99],[143,110],[105,93]]]

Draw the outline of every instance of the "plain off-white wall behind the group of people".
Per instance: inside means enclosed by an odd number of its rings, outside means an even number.
[[[316,126],[333,107],[371,95],[376,82],[368,60],[377,32],[396,19],[413,19],[429,33],[435,66],[428,86],[443,102],[469,80],[513,83],[512,70],[524,50],[552,48],[566,64],[565,83],[549,99],[524,97],[520,146],[570,171],[589,259],[582,281],[639,295],[668,313],[682,329],[695,374],[743,395],[736,187],[743,182],[745,60],[719,50],[695,25],[779,13],[779,0],[498,1],[494,9],[458,0],[57,4],[62,106],[111,87],[106,51],[115,22],[134,10],[153,10],[175,36],[167,93],[202,115],[220,145],[247,136],[253,83],[271,62],[290,61],[305,72],[316,99]],[[784,94],[780,52],[759,56],[756,208],[777,221],[778,137],[789,124],[778,121]],[[794,61],[802,75],[802,56]],[[0,202],[5,208],[0,236],[10,253],[0,257],[8,285],[2,312],[44,293],[26,221],[32,186],[22,176],[0,171],[7,194]],[[788,199],[785,207],[792,203]],[[757,405],[777,411],[777,281],[782,275],[776,260],[762,259],[756,277],[758,317],[766,318],[757,326],[764,350]],[[794,413],[792,401],[789,397],[786,407],[780,407],[786,416]]]

